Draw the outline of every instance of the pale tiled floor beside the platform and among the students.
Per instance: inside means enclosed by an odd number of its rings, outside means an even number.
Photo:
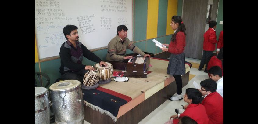
[[[189,83],[182,88],[183,95],[185,94],[185,89],[191,87],[195,88],[193,86],[193,81],[196,81],[199,85],[200,82],[208,79],[208,73],[204,72],[204,69],[202,71],[198,71],[199,64],[201,60],[199,59],[192,59],[192,58],[185,58],[185,61],[188,61],[193,64],[192,68],[190,69],[190,81]],[[184,100],[181,101],[170,101],[167,100],[163,104],[161,104],[158,108],[156,108],[152,113],[150,113],[148,116],[146,116],[142,121],[140,121],[138,124],[163,124],[167,122],[172,115],[176,115],[175,109],[176,108],[182,108],[181,105],[186,105],[187,103],[184,102]],[[56,123],[52,123],[56,124]],[[84,120],[84,124],[90,124],[89,122]]]

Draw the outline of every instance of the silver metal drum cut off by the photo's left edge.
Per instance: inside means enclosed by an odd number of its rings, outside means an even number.
[[[50,124],[48,89],[35,87],[35,124]]]

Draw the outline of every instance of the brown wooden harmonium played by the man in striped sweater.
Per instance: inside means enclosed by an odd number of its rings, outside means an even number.
[[[143,56],[133,57],[134,58],[130,59],[126,64],[124,76],[134,78],[147,78],[147,71],[150,64],[150,58],[144,58]]]

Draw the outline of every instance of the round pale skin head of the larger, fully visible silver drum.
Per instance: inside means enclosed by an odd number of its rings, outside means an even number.
[[[65,81],[60,81],[52,84],[49,89],[52,91],[62,91],[62,90],[67,90],[67,89],[72,89],[81,84],[80,81],[77,80],[65,80]]]

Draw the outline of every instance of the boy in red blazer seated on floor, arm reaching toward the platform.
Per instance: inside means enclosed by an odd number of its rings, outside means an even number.
[[[198,124],[208,124],[209,119],[206,114],[205,107],[200,104],[202,94],[198,89],[188,88],[185,91],[184,101],[189,105],[185,108],[185,111],[182,114],[172,115],[170,117],[175,119],[181,119],[184,116],[189,116],[195,120]],[[173,122],[174,122],[173,120]],[[176,121],[176,120],[175,120]]]

